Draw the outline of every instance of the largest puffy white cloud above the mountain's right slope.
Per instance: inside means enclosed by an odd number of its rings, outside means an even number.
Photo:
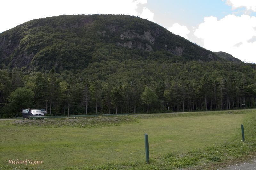
[[[204,48],[211,51],[223,51],[242,61],[256,62],[256,17],[248,15],[228,15],[217,20],[205,17],[194,32],[204,40]]]

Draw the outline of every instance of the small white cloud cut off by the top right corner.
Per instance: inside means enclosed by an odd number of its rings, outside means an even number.
[[[222,0],[223,1],[223,0]],[[256,12],[256,1],[255,0],[227,0],[226,4],[232,6],[232,9],[245,7],[248,11]]]

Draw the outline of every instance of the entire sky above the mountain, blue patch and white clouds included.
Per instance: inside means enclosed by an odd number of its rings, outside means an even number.
[[[2,0],[0,5],[0,33],[63,14],[125,14],[153,21],[207,50],[256,62],[256,0]]]

